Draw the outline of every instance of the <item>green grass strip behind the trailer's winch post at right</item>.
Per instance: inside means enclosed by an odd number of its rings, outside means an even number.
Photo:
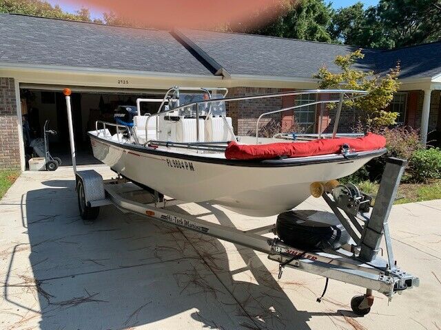
[[[356,186],[369,195],[376,195],[378,192],[378,184],[374,184],[371,181],[363,181]],[[397,198],[396,204],[441,199],[441,179],[435,180],[430,184],[400,184]]]

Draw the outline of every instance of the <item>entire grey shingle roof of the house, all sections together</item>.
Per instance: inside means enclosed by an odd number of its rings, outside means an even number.
[[[199,51],[232,75],[311,78],[322,65],[338,72],[337,55],[357,47],[252,34],[183,30]],[[182,40],[181,40],[182,41]],[[0,14],[0,63],[67,65],[212,76],[217,65],[162,30]],[[386,73],[397,61],[401,78],[441,73],[441,42],[397,50],[363,50],[357,66]],[[211,63],[211,64],[210,64]]]

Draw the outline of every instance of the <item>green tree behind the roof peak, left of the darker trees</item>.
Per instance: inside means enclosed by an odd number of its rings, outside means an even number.
[[[233,27],[235,32],[251,32],[267,36],[280,36],[311,41],[331,42],[331,5],[323,0],[300,0],[283,3],[283,14],[263,28],[242,30]]]

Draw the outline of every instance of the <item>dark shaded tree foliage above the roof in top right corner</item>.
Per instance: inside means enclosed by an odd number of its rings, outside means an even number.
[[[441,39],[440,0],[380,0],[366,10],[362,3],[337,10],[330,34],[348,45],[387,48]]]

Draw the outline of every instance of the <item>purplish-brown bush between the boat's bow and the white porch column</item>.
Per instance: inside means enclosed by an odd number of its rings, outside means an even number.
[[[420,142],[420,134],[416,129],[412,129],[411,127],[398,126],[391,129],[385,128],[375,133],[386,137],[387,152],[381,157],[372,159],[371,162],[366,165],[371,181],[377,181],[381,177],[384,166],[386,166],[387,158],[398,157],[411,159],[416,151],[424,150],[424,146]]]

